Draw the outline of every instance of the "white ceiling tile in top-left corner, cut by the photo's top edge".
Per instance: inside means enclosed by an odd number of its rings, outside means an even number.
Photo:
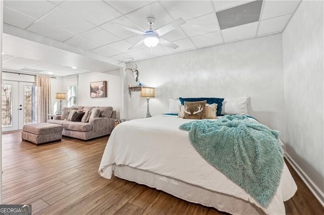
[[[41,18],[56,7],[49,1],[4,1],[4,6],[35,18]]]

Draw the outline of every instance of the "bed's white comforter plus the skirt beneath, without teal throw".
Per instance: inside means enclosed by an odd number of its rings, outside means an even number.
[[[114,174],[231,214],[285,214],[284,201],[297,190],[286,164],[277,191],[264,208],[200,156],[188,132],[179,129],[191,121],[158,115],[119,124],[109,137],[99,174],[106,179]]]

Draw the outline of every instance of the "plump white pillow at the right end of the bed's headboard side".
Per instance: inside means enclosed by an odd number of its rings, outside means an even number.
[[[222,106],[222,115],[248,115],[249,96],[225,98]]]

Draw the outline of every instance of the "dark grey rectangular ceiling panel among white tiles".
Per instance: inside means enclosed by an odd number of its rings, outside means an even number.
[[[216,12],[221,30],[259,21],[262,0]]]

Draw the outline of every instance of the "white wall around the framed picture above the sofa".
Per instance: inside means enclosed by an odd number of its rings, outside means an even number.
[[[90,98],[90,82],[107,81],[107,97],[106,98]],[[78,78],[78,105],[83,106],[112,106],[116,111],[117,118],[120,113],[124,112],[123,105],[123,72],[112,71],[111,74],[106,73],[83,73]]]

